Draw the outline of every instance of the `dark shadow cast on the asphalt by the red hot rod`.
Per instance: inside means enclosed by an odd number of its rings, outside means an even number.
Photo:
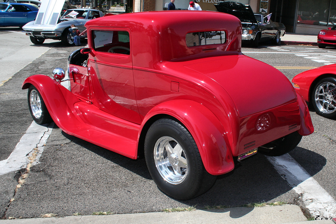
[[[62,134],[73,143],[98,156],[118,164],[145,179],[152,179],[144,158],[132,160],[64,132]],[[309,161],[303,165],[303,168],[311,176],[317,174],[326,165],[326,158],[307,149],[296,147],[291,153],[304,156],[306,161]],[[187,206],[196,206],[197,209],[206,209],[208,206],[241,207],[251,203],[281,201],[284,198],[282,195],[289,193],[293,194],[293,197],[289,197],[292,200],[286,201],[286,203],[295,203],[293,200],[296,194],[290,193],[291,189],[292,187],[280,176],[266,157],[262,154],[256,154],[243,160],[241,165],[236,166],[233,171],[217,176],[215,184],[208,192],[187,201],[171,199]],[[252,210],[253,208],[249,208],[244,211],[247,214]],[[225,211],[223,210],[222,212]],[[230,216],[237,218],[245,214],[235,214],[233,212],[233,214],[230,213]]]

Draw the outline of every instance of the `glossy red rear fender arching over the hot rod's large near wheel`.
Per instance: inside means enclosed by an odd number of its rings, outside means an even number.
[[[175,117],[187,128],[197,144],[204,167],[210,174],[220,175],[234,169],[230,146],[226,144],[226,132],[208,108],[192,100],[164,102],[144,117],[141,127],[153,116],[162,114]]]

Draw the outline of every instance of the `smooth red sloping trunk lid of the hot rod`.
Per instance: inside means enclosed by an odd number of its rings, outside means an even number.
[[[275,108],[296,99],[295,90],[283,73],[245,55],[224,56],[184,67],[216,81],[232,98],[240,117]],[[199,85],[204,86],[204,83]]]

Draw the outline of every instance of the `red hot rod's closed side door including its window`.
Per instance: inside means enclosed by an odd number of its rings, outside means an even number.
[[[99,28],[88,31],[92,41],[89,78],[93,104],[124,120],[141,123],[138,112],[130,49],[126,28]]]

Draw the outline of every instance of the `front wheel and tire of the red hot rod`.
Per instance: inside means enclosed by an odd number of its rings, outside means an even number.
[[[32,85],[28,89],[28,107],[34,121],[38,124],[48,124],[52,118],[39,91]]]

